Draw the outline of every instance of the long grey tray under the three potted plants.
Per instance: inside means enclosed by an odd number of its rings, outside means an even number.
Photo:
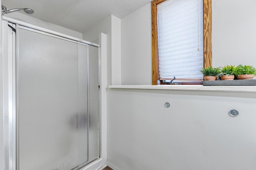
[[[216,86],[256,86],[256,80],[216,80],[216,81],[203,81],[203,85],[216,85]]]

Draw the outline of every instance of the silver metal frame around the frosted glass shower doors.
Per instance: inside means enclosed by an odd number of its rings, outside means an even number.
[[[71,41],[76,41],[80,44],[84,44],[84,45],[92,45],[95,47],[98,47],[98,82],[99,82],[99,158],[89,162],[85,167],[82,168],[82,170],[91,170],[92,167],[102,167],[105,166],[106,164],[106,153],[103,154],[102,157],[102,107],[101,107],[101,103],[102,103],[102,81],[101,81],[101,45],[97,44],[97,43],[92,43],[92,42],[88,42],[79,38],[75,38],[72,36],[68,36],[66,34],[62,34],[56,31],[52,31],[46,28],[42,28],[39,26],[35,26],[33,24],[28,24],[26,22],[22,22],[19,20],[15,20],[9,17],[5,17],[2,16],[2,20],[10,22],[12,24],[16,25],[16,30],[18,32],[18,28],[19,26],[22,26],[23,28],[27,28],[28,30],[35,30],[35,32],[43,32],[45,34],[51,34],[53,37],[58,37],[60,39],[69,39]],[[15,34],[15,36],[12,36],[13,40],[15,38],[17,38],[18,36]],[[16,82],[16,56],[18,55],[18,40],[15,41],[16,43],[13,44],[16,47],[14,49],[12,49],[12,54],[13,56],[8,56],[8,59],[4,59],[3,57],[3,65],[7,64],[8,66],[6,66],[6,69],[3,71],[7,71],[8,70],[8,75],[5,75],[5,73],[3,73],[3,79],[2,79],[2,83],[3,83],[3,106],[4,106],[4,111],[3,111],[3,117],[4,117],[4,168],[5,170],[16,170],[16,162],[17,162],[17,137],[16,137],[16,127],[17,125],[17,121],[16,121],[16,99],[17,99],[17,92],[16,92],[16,87],[18,87],[17,82]],[[4,46],[4,45],[2,45]],[[4,47],[2,50],[2,53],[4,51]],[[2,54],[3,56],[3,54]],[[7,61],[5,61],[7,60]],[[104,96],[106,97],[106,96]],[[105,101],[105,100],[104,100]],[[104,108],[105,109],[105,108]],[[105,111],[104,111],[105,112]],[[6,120],[8,122],[6,122]],[[17,119],[18,120],[18,119]],[[104,127],[106,124],[104,123]],[[104,132],[104,136],[106,136],[106,131]],[[7,138],[7,139],[6,139]],[[105,141],[106,139],[104,139]],[[104,151],[106,152],[106,148],[104,145]],[[94,163],[96,164],[96,166],[94,165]]]

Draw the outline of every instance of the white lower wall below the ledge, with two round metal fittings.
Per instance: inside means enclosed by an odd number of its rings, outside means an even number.
[[[108,97],[110,166],[256,169],[255,93],[109,89]],[[230,117],[231,109],[239,115]]]

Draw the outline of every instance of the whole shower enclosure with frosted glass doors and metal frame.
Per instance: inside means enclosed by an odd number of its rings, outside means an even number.
[[[2,32],[6,170],[78,170],[99,159],[100,45],[16,20],[3,20]]]

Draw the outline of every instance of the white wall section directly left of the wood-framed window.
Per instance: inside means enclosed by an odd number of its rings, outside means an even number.
[[[122,85],[151,85],[151,4],[121,20]]]

